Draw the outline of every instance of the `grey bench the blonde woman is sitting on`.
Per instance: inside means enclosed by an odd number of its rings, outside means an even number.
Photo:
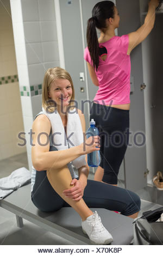
[[[61,236],[74,245],[91,245],[83,234],[80,216],[72,208],[62,208],[57,212],[41,212],[30,198],[30,184],[18,188],[8,197],[0,200],[0,206],[16,215],[17,226],[23,227],[23,218]],[[106,209],[92,209],[101,216],[104,227],[109,230],[114,241],[112,245],[129,245],[133,239],[133,219]]]

